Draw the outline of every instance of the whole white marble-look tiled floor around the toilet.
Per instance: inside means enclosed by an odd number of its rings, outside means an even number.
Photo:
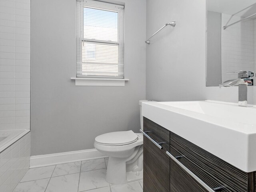
[[[143,180],[106,182],[107,158],[29,169],[13,192],[143,192]]]

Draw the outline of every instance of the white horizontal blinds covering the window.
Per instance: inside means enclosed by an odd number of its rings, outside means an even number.
[[[77,0],[76,77],[124,78],[124,6]]]

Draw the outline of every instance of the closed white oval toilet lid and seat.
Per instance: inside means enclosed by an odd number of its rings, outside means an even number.
[[[136,142],[136,140],[138,140],[138,135],[132,130],[106,133],[95,138],[97,143],[108,146],[127,145]]]

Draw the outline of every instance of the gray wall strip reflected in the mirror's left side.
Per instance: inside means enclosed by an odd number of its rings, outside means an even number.
[[[207,86],[221,84],[221,29],[221,14],[207,11]]]

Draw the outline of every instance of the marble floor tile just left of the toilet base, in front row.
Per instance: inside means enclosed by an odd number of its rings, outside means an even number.
[[[106,182],[106,169],[81,172],[79,181],[79,192],[109,186]]]

